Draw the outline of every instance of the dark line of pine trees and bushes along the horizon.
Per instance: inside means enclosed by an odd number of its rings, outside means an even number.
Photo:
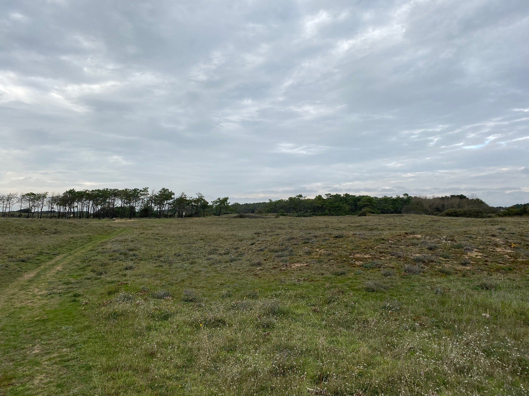
[[[494,208],[478,198],[462,194],[421,197],[369,196],[351,194],[325,194],[307,198],[301,194],[288,199],[256,203],[233,203],[229,197],[218,197],[211,203],[204,195],[196,193],[176,196],[168,188],[103,188],[76,191],[73,188],[62,194],[8,193],[0,194],[2,217],[26,218],[183,218],[202,217],[225,213],[240,215],[370,215],[370,214],[429,214],[450,217],[494,217],[529,215],[528,204],[510,208]]]

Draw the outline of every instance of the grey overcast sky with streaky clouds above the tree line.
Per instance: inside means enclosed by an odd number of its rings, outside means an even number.
[[[0,193],[144,186],[529,202],[529,2],[0,2]]]

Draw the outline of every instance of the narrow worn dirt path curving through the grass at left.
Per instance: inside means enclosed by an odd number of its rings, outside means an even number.
[[[52,276],[59,272],[63,265],[68,264],[71,260],[79,257],[86,251],[93,249],[95,246],[101,244],[103,241],[115,237],[116,234],[103,237],[101,239],[89,242],[86,245],[80,246],[77,249],[63,253],[54,257],[49,262],[40,265],[33,271],[27,272],[13,283],[0,290],[0,311],[6,305],[30,305],[37,302],[41,296],[46,292],[43,286],[46,280],[51,280]]]

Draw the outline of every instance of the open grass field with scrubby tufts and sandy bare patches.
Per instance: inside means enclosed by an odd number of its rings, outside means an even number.
[[[529,219],[0,219],[2,395],[529,394]]]

